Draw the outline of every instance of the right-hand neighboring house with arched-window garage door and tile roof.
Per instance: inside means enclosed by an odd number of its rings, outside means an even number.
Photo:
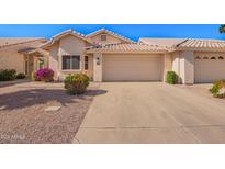
[[[171,47],[168,68],[181,83],[213,82],[225,79],[225,41],[193,38],[139,38],[140,43]]]

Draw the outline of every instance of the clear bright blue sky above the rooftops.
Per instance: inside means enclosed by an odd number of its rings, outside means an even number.
[[[137,41],[139,37],[193,37],[225,40],[220,24],[0,24],[1,37],[46,37],[74,29],[88,34],[108,29]]]

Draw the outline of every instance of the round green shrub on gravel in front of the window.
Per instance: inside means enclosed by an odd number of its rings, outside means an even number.
[[[85,74],[68,75],[64,84],[69,94],[82,94],[89,86],[89,77]]]

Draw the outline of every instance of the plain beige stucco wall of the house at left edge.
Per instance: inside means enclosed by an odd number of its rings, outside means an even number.
[[[15,69],[24,72],[24,57],[13,49],[0,50],[0,69]]]

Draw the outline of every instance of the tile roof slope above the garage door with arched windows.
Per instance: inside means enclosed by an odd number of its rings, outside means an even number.
[[[178,48],[212,48],[225,49],[225,41],[220,40],[194,40],[188,38],[177,45]]]

